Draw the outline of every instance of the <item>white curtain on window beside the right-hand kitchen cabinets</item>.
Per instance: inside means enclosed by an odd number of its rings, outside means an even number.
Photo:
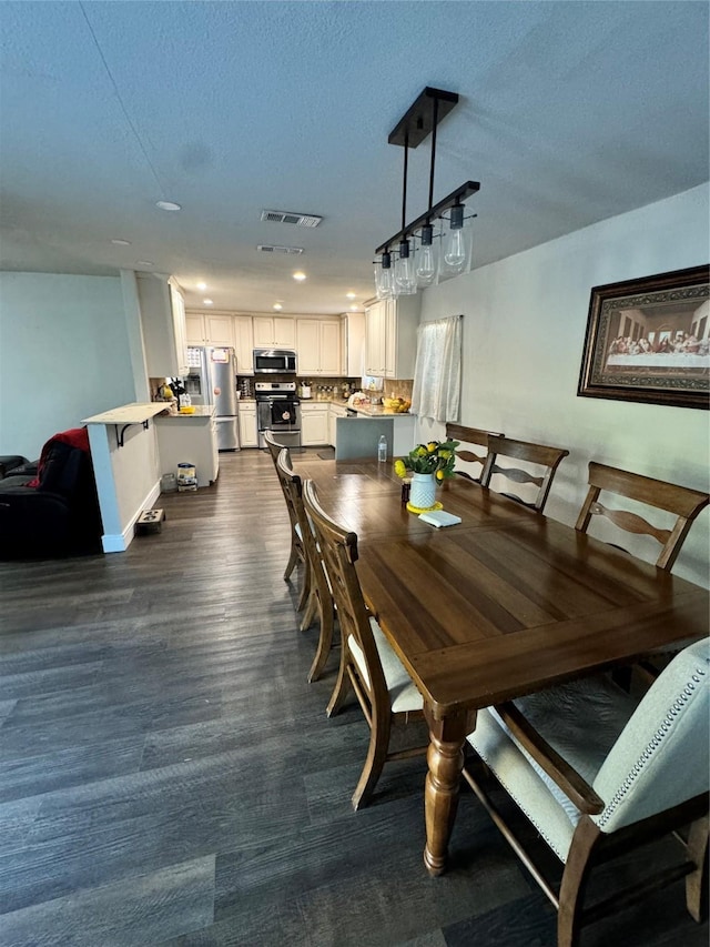
[[[417,329],[412,413],[458,421],[462,390],[462,316],[424,322]]]

